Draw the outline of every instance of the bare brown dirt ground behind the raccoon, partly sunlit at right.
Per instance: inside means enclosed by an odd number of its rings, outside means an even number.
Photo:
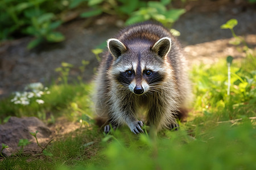
[[[256,46],[256,6],[242,0],[198,0],[188,1],[184,8],[187,12],[174,24],[180,31],[178,37],[184,47],[189,63],[213,63],[218,58],[231,55],[245,57],[228,42],[232,34],[220,25],[236,18],[238,25],[234,31],[244,36],[253,49]],[[74,65],[71,76],[81,74],[78,69],[84,59],[90,64],[86,67],[84,80],[92,79],[98,61],[92,49],[117,33],[120,21],[113,16],[101,16],[88,25],[88,20],[77,19],[66,23],[61,31],[66,40],[58,44],[44,44],[33,50],[26,45],[31,37],[3,42],[0,44],[0,99],[11,92],[22,91],[32,82],[49,84],[56,80],[56,67],[61,62]],[[86,25],[86,27],[85,27]]]

